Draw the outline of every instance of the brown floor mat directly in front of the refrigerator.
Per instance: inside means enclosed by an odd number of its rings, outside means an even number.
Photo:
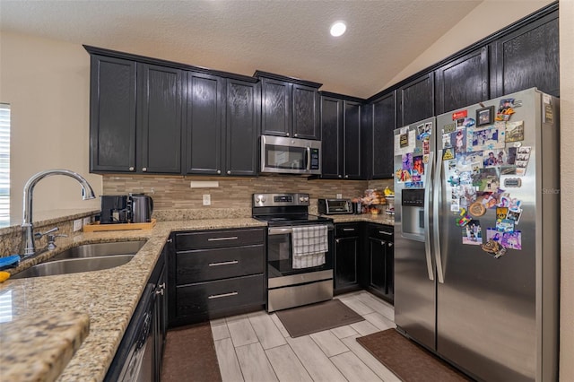
[[[387,329],[364,337],[357,342],[367,349],[387,369],[404,382],[472,381],[395,329]]]

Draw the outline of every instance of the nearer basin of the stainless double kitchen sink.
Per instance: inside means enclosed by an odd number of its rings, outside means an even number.
[[[101,271],[103,269],[124,265],[134,256],[135,255],[112,255],[48,261],[30,266],[30,268],[14,274],[12,278],[25,279],[29,277],[53,276],[55,274]]]

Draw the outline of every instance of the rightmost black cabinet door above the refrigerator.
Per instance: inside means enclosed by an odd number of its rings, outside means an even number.
[[[491,98],[532,87],[560,95],[558,11],[493,43]]]

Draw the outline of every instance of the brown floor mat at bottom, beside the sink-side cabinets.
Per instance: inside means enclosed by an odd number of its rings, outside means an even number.
[[[161,368],[162,382],[221,380],[209,322],[168,331]]]

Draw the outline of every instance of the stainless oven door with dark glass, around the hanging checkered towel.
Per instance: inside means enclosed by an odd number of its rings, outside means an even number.
[[[325,264],[307,268],[293,268],[291,227],[270,227],[267,230],[267,278],[271,279],[301,273],[321,272],[333,269],[334,229],[329,224],[329,249],[325,254]]]

